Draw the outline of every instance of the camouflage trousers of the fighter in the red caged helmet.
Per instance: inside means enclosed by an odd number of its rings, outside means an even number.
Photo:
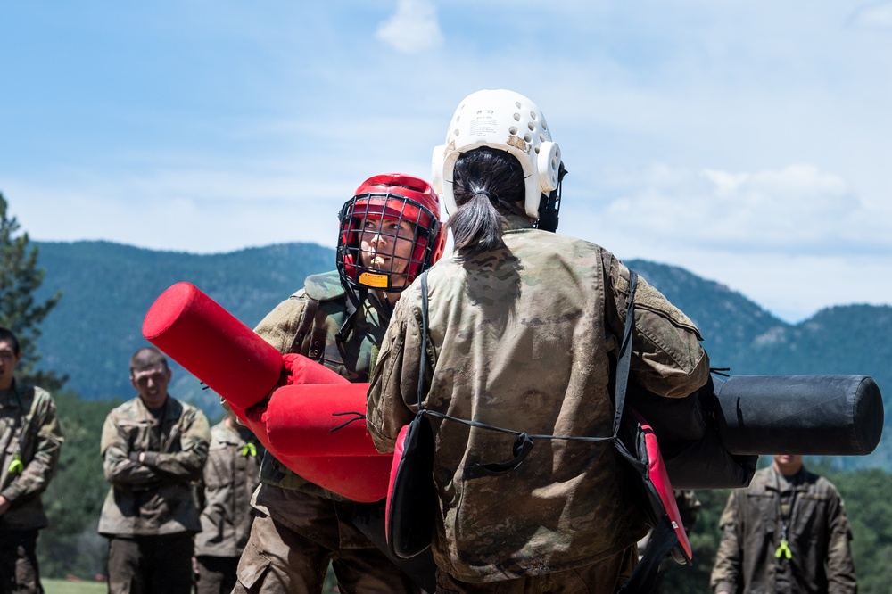
[[[265,514],[254,518],[233,594],[319,594],[329,563],[342,594],[417,594],[409,577],[368,541],[362,548],[338,545],[341,530],[355,529],[343,524],[335,507],[349,505],[317,499],[297,513],[303,515],[300,531]]]

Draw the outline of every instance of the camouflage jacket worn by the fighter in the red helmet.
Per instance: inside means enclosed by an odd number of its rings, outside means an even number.
[[[366,382],[386,330],[386,319],[376,302],[374,297],[363,301],[361,310],[356,311],[347,324],[353,308],[337,272],[308,276],[304,288],[269,312],[254,332],[283,354],[305,355],[351,382]],[[350,328],[350,333],[339,339],[342,327]],[[269,451],[260,464],[260,481],[252,502],[254,507],[290,524],[298,520],[282,518],[277,513],[280,507],[277,503],[292,498],[286,491],[300,491],[304,495],[335,501],[348,500],[294,474]],[[304,520],[312,523],[312,518]],[[351,532],[349,537],[342,534],[342,543],[371,546],[359,531],[342,525],[344,531]]]

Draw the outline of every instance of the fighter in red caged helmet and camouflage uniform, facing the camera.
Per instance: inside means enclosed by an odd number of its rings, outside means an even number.
[[[305,355],[351,382],[366,382],[393,304],[440,258],[446,234],[432,187],[402,174],[369,177],[338,219],[337,269],[307,277],[254,331],[283,354]],[[369,507],[376,515],[377,505],[326,491],[267,451],[252,497],[258,516],[233,591],[318,594],[329,565],[341,592],[419,591],[357,527],[356,516],[368,517]],[[383,524],[381,531],[383,540]]]

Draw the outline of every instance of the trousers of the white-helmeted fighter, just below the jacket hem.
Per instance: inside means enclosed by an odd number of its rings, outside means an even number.
[[[459,582],[437,572],[436,594],[610,594],[622,586],[638,564],[638,546],[632,545],[591,565],[500,582]]]

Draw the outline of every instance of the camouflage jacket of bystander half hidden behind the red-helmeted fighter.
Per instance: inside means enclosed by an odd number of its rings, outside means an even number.
[[[251,533],[251,496],[260,483],[263,446],[246,428],[211,427],[211,449],[198,489],[202,532],[195,555],[239,557]]]

